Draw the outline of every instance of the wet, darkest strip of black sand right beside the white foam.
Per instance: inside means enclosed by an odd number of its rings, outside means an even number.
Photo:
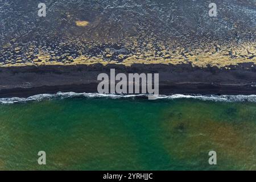
[[[96,88],[96,89],[94,89]],[[86,91],[84,91],[86,90]],[[256,94],[256,89],[250,85],[233,86],[233,85],[207,85],[207,84],[174,84],[159,85],[159,94],[171,96],[173,94],[200,94],[200,95],[245,95]],[[40,86],[36,88],[15,88],[3,89],[0,91],[0,98],[27,98],[38,94],[56,94],[58,92],[75,92],[75,93],[98,93],[97,84],[87,85],[57,85],[57,86]],[[129,94],[127,94],[129,95]]]

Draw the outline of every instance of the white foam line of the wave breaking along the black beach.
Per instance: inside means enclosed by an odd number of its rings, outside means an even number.
[[[75,92],[58,92],[56,94],[38,94],[27,98],[0,98],[0,104],[15,104],[28,101],[42,101],[42,100],[53,100],[53,99],[64,99],[69,97],[85,97],[85,98],[140,98],[148,97],[148,94],[137,94],[137,95],[117,95],[117,94],[100,94],[100,93],[75,93]],[[222,101],[222,102],[256,102],[256,95],[185,95],[185,94],[173,94],[171,96],[159,95],[158,99],[175,100],[181,98],[188,99],[199,99],[203,101]]]

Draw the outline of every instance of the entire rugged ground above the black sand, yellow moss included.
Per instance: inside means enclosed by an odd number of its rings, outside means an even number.
[[[2,66],[256,63],[255,0],[39,2],[0,2]]]

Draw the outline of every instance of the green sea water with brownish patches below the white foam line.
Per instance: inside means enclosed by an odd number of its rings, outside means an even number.
[[[39,151],[46,165],[38,164]],[[256,170],[256,103],[69,98],[0,105],[0,169]]]

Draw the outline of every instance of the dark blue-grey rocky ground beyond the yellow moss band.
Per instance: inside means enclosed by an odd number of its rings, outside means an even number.
[[[38,16],[41,1],[1,1],[1,44],[19,39],[22,43],[56,38],[118,40],[129,36],[159,39],[254,39],[255,1],[216,0],[218,15],[210,18],[205,0],[46,1],[47,16]],[[76,20],[87,20],[86,28]]]

